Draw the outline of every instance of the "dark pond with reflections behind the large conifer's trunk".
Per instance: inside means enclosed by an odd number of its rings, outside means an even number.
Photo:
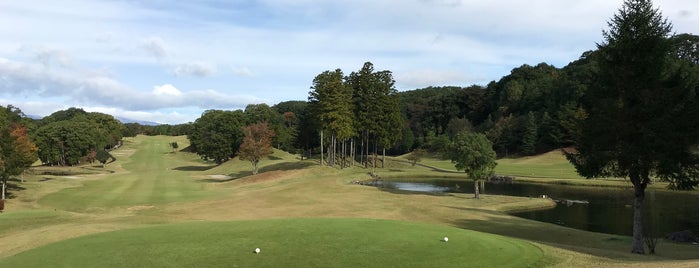
[[[379,187],[419,192],[473,193],[472,181],[430,180],[421,182],[381,181]],[[512,215],[592,232],[631,235],[633,192],[631,188],[566,186],[555,184],[486,183],[482,193],[540,197],[556,201],[552,209]],[[699,234],[699,195],[664,190],[646,190],[646,228],[654,236],[691,230]]]

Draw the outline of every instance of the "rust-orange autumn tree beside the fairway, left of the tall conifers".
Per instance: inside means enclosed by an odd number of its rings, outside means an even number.
[[[272,138],[275,133],[267,122],[249,125],[243,128],[243,133],[245,137],[238,150],[238,156],[241,160],[250,161],[254,175],[257,174],[257,164],[260,160],[272,154]]]

